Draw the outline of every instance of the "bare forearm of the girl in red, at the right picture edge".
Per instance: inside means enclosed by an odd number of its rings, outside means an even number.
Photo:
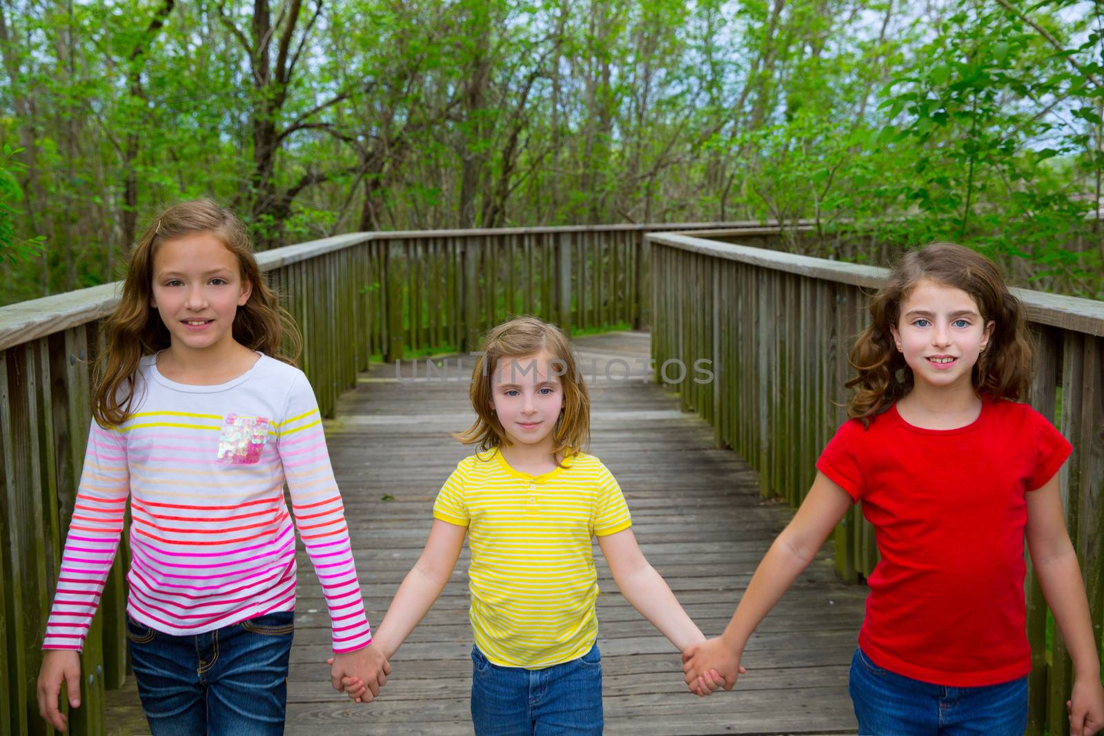
[[[1078,676],[1100,678],[1089,599],[1073,547],[1040,559],[1034,566],[1042,595],[1073,660],[1074,672]]]

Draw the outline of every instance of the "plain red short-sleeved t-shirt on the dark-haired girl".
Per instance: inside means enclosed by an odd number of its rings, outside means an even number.
[[[1027,404],[985,402],[973,423],[922,429],[892,406],[839,428],[817,469],[862,501],[881,559],[859,646],[881,668],[952,687],[1031,671],[1023,600],[1025,493],[1070,444]]]

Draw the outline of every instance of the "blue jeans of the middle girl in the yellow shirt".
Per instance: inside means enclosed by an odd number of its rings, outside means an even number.
[[[471,723],[476,736],[602,734],[602,654],[542,670],[499,666],[471,648]]]

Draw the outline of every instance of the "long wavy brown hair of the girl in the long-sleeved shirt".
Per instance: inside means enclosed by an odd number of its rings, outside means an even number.
[[[153,256],[162,243],[210,233],[237,257],[242,280],[253,286],[248,301],[234,316],[234,340],[295,365],[302,340],[291,316],[261,275],[250,235],[234,213],[211,200],[174,204],[150,222],[130,253],[119,305],[104,323],[106,344],[95,366],[92,413],[102,427],[123,424],[131,413],[135,373],[145,355],[169,346],[169,329],[150,306]]]

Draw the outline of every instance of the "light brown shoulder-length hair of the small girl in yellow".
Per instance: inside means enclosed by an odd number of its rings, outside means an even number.
[[[585,450],[591,442],[591,397],[586,384],[580,375],[566,335],[560,328],[535,317],[517,317],[484,337],[468,390],[476,420],[465,431],[454,433],[453,437],[465,445],[476,445],[479,451],[509,446],[506,429],[492,410],[498,362],[503,358],[530,358],[541,351],[555,365],[555,372],[562,374],[560,383],[564,402],[552,429],[552,452],[556,458],[567,458]]]

